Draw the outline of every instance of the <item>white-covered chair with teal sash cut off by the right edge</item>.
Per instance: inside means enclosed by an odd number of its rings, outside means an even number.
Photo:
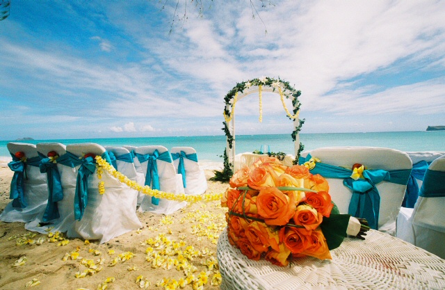
[[[414,209],[398,215],[396,236],[445,259],[445,155],[426,170]]]

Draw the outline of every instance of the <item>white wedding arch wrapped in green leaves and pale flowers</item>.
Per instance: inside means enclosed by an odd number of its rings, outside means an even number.
[[[280,95],[281,102],[286,111],[287,118],[293,121],[293,131],[291,134],[292,140],[294,142],[294,150],[295,150],[295,160],[294,164],[298,163],[298,157],[300,156],[300,152],[304,149],[302,143],[300,143],[300,138],[298,136],[298,132],[301,130],[302,124],[305,123],[305,119],[298,118],[300,115],[300,102],[298,101],[298,97],[300,97],[300,90],[296,90],[292,86],[289,85],[289,82],[283,81],[282,79],[273,79],[270,77],[262,77],[260,79],[251,79],[249,81],[243,81],[241,83],[237,83],[232,90],[227,92],[227,95],[224,97],[225,101],[225,109],[223,112],[224,115],[224,132],[226,136],[226,149],[224,152],[224,171],[225,172],[233,172],[234,164],[235,164],[235,106],[236,102],[248,95],[252,95],[253,93],[258,92],[259,95],[259,122],[262,121],[262,93],[263,92],[275,92]],[[284,103],[284,97],[286,99],[291,99],[293,110],[292,113],[289,112],[289,109],[286,107]]]

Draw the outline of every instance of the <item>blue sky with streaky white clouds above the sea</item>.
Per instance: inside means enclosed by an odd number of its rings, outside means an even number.
[[[301,133],[445,125],[445,1],[270,2],[10,0],[0,140],[223,135],[224,96],[264,76],[301,90]],[[235,118],[293,130],[276,93]]]

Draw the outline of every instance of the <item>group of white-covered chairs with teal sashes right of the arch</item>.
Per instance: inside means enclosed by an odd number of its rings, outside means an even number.
[[[327,178],[330,195],[341,214],[367,218],[374,229],[445,257],[441,242],[445,238],[445,152],[325,147],[303,152],[300,163],[312,157],[321,162],[311,172]],[[355,164],[366,167],[357,181],[348,178]],[[419,164],[426,164],[426,168],[419,170]],[[428,177],[431,172],[434,182]],[[428,184],[422,184],[427,179]],[[410,182],[420,186],[420,191],[414,191],[415,186],[407,188]],[[436,195],[423,195],[431,184],[437,186]],[[407,200],[411,200],[414,209],[406,208]]]

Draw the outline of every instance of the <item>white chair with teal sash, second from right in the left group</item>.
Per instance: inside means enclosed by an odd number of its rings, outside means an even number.
[[[145,182],[141,185],[166,193],[184,193],[182,175],[177,174],[167,148],[163,146],[137,147],[136,158],[145,172]],[[146,195],[139,210],[151,211],[154,214],[172,214],[185,206],[186,202],[158,199]]]

